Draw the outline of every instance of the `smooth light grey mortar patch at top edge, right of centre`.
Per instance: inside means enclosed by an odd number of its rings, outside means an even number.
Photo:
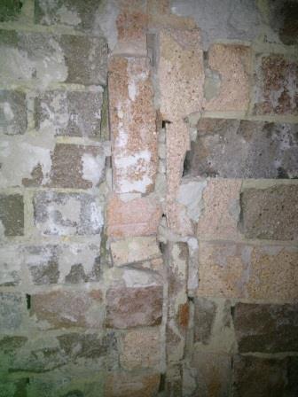
[[[196,22],[202,32],[204,50],[219,40],[254,40],[262,29],[263,18],[255,1],[172,0],[171,11]]]

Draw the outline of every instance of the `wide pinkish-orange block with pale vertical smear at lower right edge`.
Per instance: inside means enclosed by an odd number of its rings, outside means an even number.
[[[200,242],[198,294],[294,302],[297,254],[290,246]]]

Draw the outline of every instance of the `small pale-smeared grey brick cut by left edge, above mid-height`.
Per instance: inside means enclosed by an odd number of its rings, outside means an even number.
[[[26,94],[0,90],[0,133],[21,135],[27,129]]]

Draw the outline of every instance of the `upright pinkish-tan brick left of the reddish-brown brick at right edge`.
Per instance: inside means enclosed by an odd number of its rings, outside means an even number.
[[[214,44],[208,51],[208,66],[216,77],[211,79],[211,87],[219,80],[214,94],[205,84],[205,109],[208,111],[246,111],[249,104],[250,48],[245,45]],[[212,92],[212,91],[211,91]],[[209,97],[208,97],[209,95]]]

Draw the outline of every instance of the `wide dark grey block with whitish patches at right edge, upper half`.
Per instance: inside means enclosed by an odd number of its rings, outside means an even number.
[[[295,124],[201,119],[186,155],[185,175],[221,178],[295,178]]]

